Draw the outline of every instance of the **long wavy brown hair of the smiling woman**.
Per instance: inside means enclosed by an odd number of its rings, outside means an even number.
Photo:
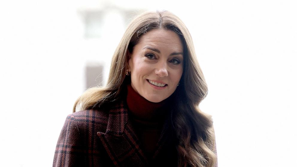
[[[201,112],[198,104],[207,95],[207,85],[193,46],[192,37],[184,23],[168,11],[143,13],[134,18],[122,37],[110,67],[107,85],[88,89],[74,104],[75,110],[100,107],[119,99],[130,82],[125,71],[128,50],[138,43],[141,35],[155,28],[176,32],[184,47],[184,70],[180,84],[173,93],[172,128],[178,139],[178,166],[213,167],[216,164],[215,139],[211,116]]]

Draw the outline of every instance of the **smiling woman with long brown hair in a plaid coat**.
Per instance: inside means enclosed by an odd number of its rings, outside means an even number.
[[[198,109],[206,95],[183,22],[144,13],[116,48],[107,86],[75,102],[53,166],[217,166],[212,119]]]

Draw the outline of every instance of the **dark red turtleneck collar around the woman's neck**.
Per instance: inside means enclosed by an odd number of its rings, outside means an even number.
[[[127,86],[127,90],[127,105],[130,110],[130,115],[133,116],[134,119],[149,122],[164,120],[168,111],[170,98],[154,103],[139,95],[130,84]]]

